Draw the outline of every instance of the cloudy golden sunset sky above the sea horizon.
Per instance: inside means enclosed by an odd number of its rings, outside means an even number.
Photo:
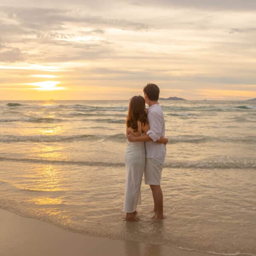
[[[0,1],[0,100],[256,98],[255,0]]]

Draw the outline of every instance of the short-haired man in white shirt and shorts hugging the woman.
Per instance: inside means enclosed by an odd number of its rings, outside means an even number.
[[[154,199],[155,218],[163,219],[163,192],[160,186],[162,166],[166,156],[166,145],[155,143],[159,138],[165,135],[165,123],[163,111],[158,103],[159,87],[156,84],[147,84],[143,89],[144,99],[148,105],[148,122],[150,130],[147,134],[134,137],[133,134],[127,134],[131,142],[144,141],[146,148],[145,165],[145,184],[148,184],[152,190]]]

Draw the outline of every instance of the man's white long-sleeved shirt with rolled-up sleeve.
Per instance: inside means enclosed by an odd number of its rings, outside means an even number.
[[[145,143],[146,157],[154,158],[157,162],[163,164],[166,156],[166,145],[155,143],[165,134],[163,110],[159,103],[148,108],[148,122],[150,130],[148,130],[147,134],[153,141]]]

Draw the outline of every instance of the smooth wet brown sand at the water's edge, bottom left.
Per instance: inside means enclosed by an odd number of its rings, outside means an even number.
[[[0,251],[4,256],[211,256],[209,253],[93,237],[0,209]]]

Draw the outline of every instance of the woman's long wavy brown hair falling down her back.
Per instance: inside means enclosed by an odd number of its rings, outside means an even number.
[[[131,98],[126,118],[126,126],[138,131],[138,121],[144,125],[148,122],[145,112],[145,99],[142,96],[133,96]]]

